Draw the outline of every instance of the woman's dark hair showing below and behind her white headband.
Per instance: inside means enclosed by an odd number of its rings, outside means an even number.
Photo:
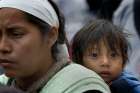
[[[55,58],[55,53],[58,52],[57,50],[57,44],[63,44],[66,43],[68,45],[68,40],[66,38],[66,33],[65,33],[65,20],[64,20],[64,16],[62,15],[62,13],[60,12],[60,10],[58,9],[57,5],[52,1],[52,0],[48,0],[50,2],[50,4],[52,5],[52,7],[54,8],[57,16],[58,16],[58,20],[59,20],[59,28],[58,28],[58,39],[56,41],[56,43],[54,44],[54,46],[52,47],[52,54],[53,57]],[[44,22],[43,20],[25,13],[27,20],[29,22],[31,22],[32,24],[38,26],[41,29],[41,33],[43,33],[43,35],[45,35],[49,30],[50,30],[50,25],[47,24],[46,22]]]

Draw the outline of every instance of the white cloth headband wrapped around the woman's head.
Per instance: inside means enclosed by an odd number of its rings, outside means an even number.
[[[59,27],[58,16],[48,0],[0,0],[0,8],[3,7],[22,10],[51,26]]]

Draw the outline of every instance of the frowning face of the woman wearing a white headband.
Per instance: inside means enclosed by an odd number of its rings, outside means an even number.
[[[51,32],[51,31],[50,31]],[[13,8],[0,9],[0,65],[9,77],[43,74],[52,65],[53,39],[43,38],[39,28],[24,13]]]

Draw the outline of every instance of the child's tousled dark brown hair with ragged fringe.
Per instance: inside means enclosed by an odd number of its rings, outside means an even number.
[[[121,52],[123,64],[125,64],[128,60],[129,46],[126,36],[127,34],[123,33],[121,28],[107,20],[93,20],[74,36],[71,46],[72,60],[83,64],[83,55],[87,48],[95,45],[100,48],[99,44],[103,41],[111,51]]]

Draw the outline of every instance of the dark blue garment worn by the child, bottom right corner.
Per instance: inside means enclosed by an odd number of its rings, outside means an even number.
[[[140,81],[133,74],[123,72],[110,89],[112,93],[140,93]]]

